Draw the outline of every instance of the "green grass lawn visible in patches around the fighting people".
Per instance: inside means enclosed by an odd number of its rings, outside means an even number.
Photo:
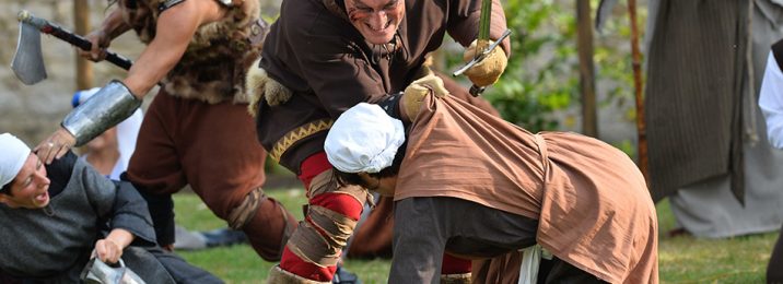
[[[267,193],[280,200],[302,218],[305,203],[302,189],[276,189]],[[225,224],[194,194],[175,194],[176,221],[189,229],[213,229]],[[668,202],[657,204],[659,232],[674,227]],[[763,283],[767,262],[778,233],[729,239],[694,239],[662,236],[658,259],[662,283]],[[189,262],[211,271],[227,283],[262,283],[274,263],[262,261],[246,245],[201,251],[178,251]],[[355,260],[346,268],[364,283],[386,283],[388,260]]]

